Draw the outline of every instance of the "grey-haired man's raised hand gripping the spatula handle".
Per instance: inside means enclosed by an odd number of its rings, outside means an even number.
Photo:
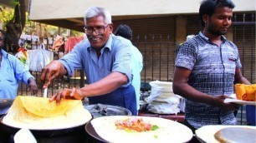
[[[58,76],[63,76],[66,73],[64,66],[59,61],[50,62],[42,72],[40,80],[44,82],[43,88],[49,86],[51,81]]]

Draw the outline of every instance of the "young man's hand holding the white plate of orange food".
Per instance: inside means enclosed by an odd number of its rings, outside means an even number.
[[[231,97],[224,96],[224,95],[214,97],[215,105],[220,107],[220,108],[222,108],[225,111],[238,111],[240,105],[239,104],[235,104],[235,103],[224,103],[224,100],[226,98],[231,98]]]

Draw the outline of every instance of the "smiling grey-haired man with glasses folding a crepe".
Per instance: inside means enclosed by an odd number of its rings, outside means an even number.
[[[90,104],[123,106],[137,115],[136,92],[131,86],[131,43],[113,32],[110,12],[102,7],[90,7],[84,16],[84,32],[88,39],[79,42],[59,61],[44,68],[41,81],[44,88],[57,76],[72,75],[74,69],[84,69],[88,86],[59,91],[51,101],[61,98],[89,98]]]

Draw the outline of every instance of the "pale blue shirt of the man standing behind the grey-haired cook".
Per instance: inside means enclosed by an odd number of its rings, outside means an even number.
[[[131,43],[131,67],[132,67],[132,86],[136,91],[137,110],[140,109],[141,96],[141,71],[143,68],[143,57],[141,52]]]

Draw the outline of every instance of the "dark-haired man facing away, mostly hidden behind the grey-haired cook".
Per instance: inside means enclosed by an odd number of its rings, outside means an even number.
[[[132,39],[131,27],[125,24],[118,26],[114,32],[116,36],[125,37],[129,41]],[[143,68],[143,57],[141,52],[131,43],[131,67],[132,67],[132,86],[136,91],[137,110],[140,109],[141,96],[141,71]]]

